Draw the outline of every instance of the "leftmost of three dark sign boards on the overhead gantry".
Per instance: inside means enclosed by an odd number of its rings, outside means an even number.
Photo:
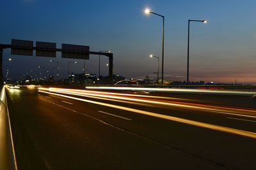
[[[33,41],[12,39],[12,54],[33,56]]]

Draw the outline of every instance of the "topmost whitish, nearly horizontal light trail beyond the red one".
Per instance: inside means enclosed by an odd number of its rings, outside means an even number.
[[[253,96],[256,92],[239,92],[228,90],[206,90],[206,89],[165,89],[165,88],[143,88],[143,87],[86,87],[86,89],[96,90],[136,90],[152,92],[183,92],[183,93],[205,93],[205,94],[227,94],[227,95],[244,95]]]

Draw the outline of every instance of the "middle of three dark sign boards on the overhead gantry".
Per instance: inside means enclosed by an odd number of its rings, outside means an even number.
[[[56,57],[56,43],[36,41],[36,56]]]

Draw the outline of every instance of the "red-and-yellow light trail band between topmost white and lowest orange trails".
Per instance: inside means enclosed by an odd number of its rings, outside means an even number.
[[[156,100],[156,99],[146,99],[146,98],[138,98],[138,97],[122,97],[122,96],[114,96],[109,94],[100,94],[100,92],[97,92],[97,94],[88,93],[87,90],[73,90],[73,89],[57,89],[57,88],[40,88],[40,90],[49,90],[50,92],[59,92],[61,94],[71,94],[76,96],[83,96],[83,97],[91,97],[91,98],[98,98],[102,99],[100,97],[106,97],[111,99],[119,99],[118,102],[124,102],[124,101],[133,101],[133,102],[141,102],[141,103],[149,103],[149,104],[159,104],[165,105],[165,106],[175,106],[175,107],[181,107],[186,109],[196,109],[196,110],[204,110],[204,111],[212,111],[215,113],[221,113],[221,114],[229,114],[229,115],[236,115],[241,117],[251,117],[256,118],[256,110],[248,110],[248,109],[241,109],[241,108],[228,108],[223,106],[211,106],[211,105],[205,105],[205,104],[195,104],[195,103],[182,103],[177,101],[163,101],[163,100]],[[111,93],[113,94],[113,93]],[[94,97],[93,97],[94,96]],[[147,97],[147,96],[146,96]],[[103,98],[103,99],[106,99]],[[136,103],[135,103],[136,104]],[[228,111],[239,111],[238,113],[229,113]],[[243,113],[241,113],[243,111]],[[253,115],[245,115],[244,113],[250,113]]]

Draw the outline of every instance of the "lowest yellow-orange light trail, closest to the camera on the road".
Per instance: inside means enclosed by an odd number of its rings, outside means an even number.
[[[223,126],[220,126],[220,125],[207,124],[207,123],[203,123],[203,122],[197,122],[195,120],[188,120],[188,119],[185,119],[185,118],[171,117],[171,116],[168,116],[168,115],[161,115],[159,113],[153,113],[153,112],[143,111],[143,110],[136,110],[136,109],[127,108],[127,107],[124,107],[124,106],[117,106],[117,105],[114,105],[114,104],[101,103],[101,102],[97,102],[97,101],[90,101],[90,100],[86,100],[86,99],[80,99],[80,98],[77,98],[77,97],[65,96],[65,95],[62,95],[62,94],[54,94],[54,93],[45,92],[45,91],[42,91],[42,90],[38,90],[38,92],[43,92],[43,93],[46,93],[46,94],[52,94],[52,95],[55,95],[55,96],[67,97],[69,99],[74,99],[74,100],[77,100],[77,101],[84,101],[84,102],[87,102],[87,103],[99,104],[99,105],[102,105],[102,106],[108,106],[108,107],[116,108],[116,109],[120,109],[120,110],[131,111],[131,112],[134,112],[134,113],[140,113],[140,114],[148,115],[148,116],[151,116],[151,117],[163,118],[163,119],[166,119],[166,120],[172,120],[174,122],[180,122],[180,123],[183,123],[183,124],[195,125],[195,126],[198,126],[198,127],[204,127],[204,128],[207,128],[207,129],[212,129],[212,130],[215,130],[215,131],[228,132],[228,133],[231,133],[231,134],[238,134],[238,135],[241,135],[241,136],[246,136],[246,137],[256,139],[256,133],[255,132],[248,132],[248,131],[243,131],[243,130],[239,130],[239,129],[233,129],[233,128],[230,128],[230,127],[223,127]]]

